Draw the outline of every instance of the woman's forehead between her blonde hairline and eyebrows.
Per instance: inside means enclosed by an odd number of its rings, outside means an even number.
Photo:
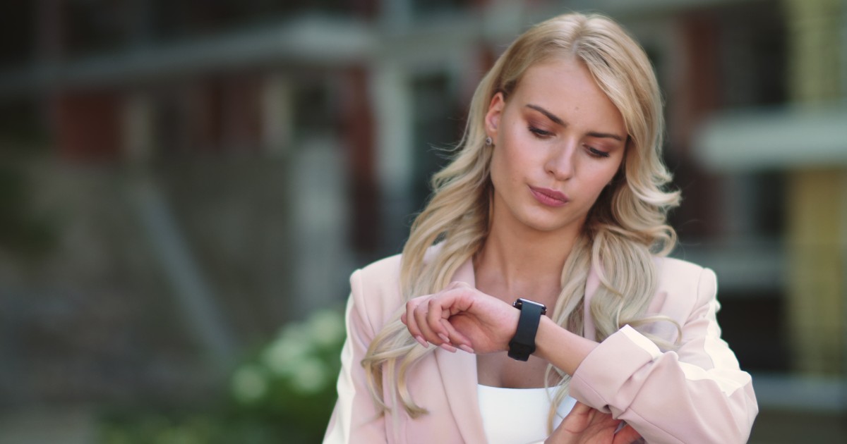
[[[568,124],[626,134],[621,112],[578,59],[536,63],[523,73],[512,103],[543,107]]]

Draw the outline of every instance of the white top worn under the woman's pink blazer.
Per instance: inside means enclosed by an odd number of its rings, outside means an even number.
[[[547,390],[550,391],[548,396]],[[523,444],[547,438],[547,412],[556,387],[501,388],[477,385],[479,412],[490,444]],[[556,408],[555,430],[577,402],[565,397]]]

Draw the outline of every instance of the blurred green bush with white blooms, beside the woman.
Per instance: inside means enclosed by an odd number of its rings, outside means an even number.
[[[285,326],[230,377],[223,406],[105,421],[103,444],[319,442],[335,404],[344,319],[319,310]]]

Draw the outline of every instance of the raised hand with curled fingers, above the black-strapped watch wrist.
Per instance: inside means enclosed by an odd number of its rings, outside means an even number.
[[[518,329],[520,311],[465,282],[453,282],[439,293],[406,304],[400,320],[424,347],[433,343],[455,352],[486,354],[505,351]]]

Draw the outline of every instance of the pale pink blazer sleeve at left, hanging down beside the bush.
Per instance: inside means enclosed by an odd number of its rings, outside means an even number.
[[[377,414],[368,391],[362,359],[374,338],[363,299],[362,271],[350,277],[352,293],[347,300],[347,338],[341,348],[338,401],[329,419],[324,443],[385,442],[385,415]]]

